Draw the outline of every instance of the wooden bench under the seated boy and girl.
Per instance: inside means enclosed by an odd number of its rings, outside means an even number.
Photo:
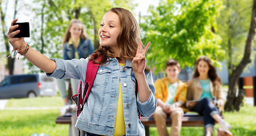
[[[221,116],[221,118],[224,118]],[[149,136],[149,128],[155,127],[156,122],[154,121],[154,117],[144,117],[141,116],[140,121],[145,127],[146,136]],[[58,116],[56,118],[56,124],[71,124],[71,114],[66,116]],[[171,126],[171,118],[166,118],[166,126]],[[203,127],[204,126],[204,118],[203,116],[198,116],[198,114],[195,113],[185,113],[182,118],[182,126],[185,127]]]

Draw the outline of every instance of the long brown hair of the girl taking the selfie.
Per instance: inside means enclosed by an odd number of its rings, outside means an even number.
[[[141,41],[140,37],[140,27],[129,10],[120,7],[111,8],[107,12],[114,12],[120,18],[121,24],[121,32],[119,36],[117,36],[117,44],[120,49],[120,57],[114,56],[113,52],[107,46],[99,46],[98,49],[94,51],[89,57],[90,60],[93,60],[94,63],[100,63],[103,65],[107,62],[109,58],[120,58],[128,59],[132,61],[132,59],[136,56],[137,46]],[[144,49],[144,46],[141,44],[141,50]],[[100,61],[96,61],[98,58],[102,57]],[[145,71],[150,71],[149,67],[146,66]]]

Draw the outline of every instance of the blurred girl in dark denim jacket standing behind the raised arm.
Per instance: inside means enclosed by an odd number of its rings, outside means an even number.
[[[83,24],[78,19],[72,19],[65,32],[62,49],[63,59],[87,58],[94,52],[93,42],[86,36]],[[72,135],[78,135],[78,130],[74,127],[77,121],[76,105],[69,101],[65,81],[71,83],[72,94],[77,94],[78,79],[57,79],[57,87],[64,101],[65,107],[60,108],[61,116],[72,112]]]

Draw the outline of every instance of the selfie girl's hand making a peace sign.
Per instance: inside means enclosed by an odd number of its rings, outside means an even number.
[[[141,41],[138,45],[136,56],[132,59],[132,70],[135,75],[144,74],[146,66],[146,57],[145,54],[148,52],[150,42],[146,44],[146,48],[141,53]]]

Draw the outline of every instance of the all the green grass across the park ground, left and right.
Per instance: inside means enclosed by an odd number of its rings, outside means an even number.
[[[35,99],[10,99],[6,108],[21,107],[62,107],[62,99],[56,97],[36,97]],[[256,135],[256,107],[245,105],[238,113],[224,112],[225,120],[233,128],[233,135]],[[58,108],[47,110],[9,110],[0,111],[0,135],[32,135],[44,133],[45,135],[68,135],[69,125],[55,124],[59,116]],[[219,124],[215,125],[213,135],[217,134]],[[168,128],[170,132],[171,128]],[[181,135],[203,135],[203,128],[184,127]],[[150,128],[150,135],[158,135],[157,128]]]

